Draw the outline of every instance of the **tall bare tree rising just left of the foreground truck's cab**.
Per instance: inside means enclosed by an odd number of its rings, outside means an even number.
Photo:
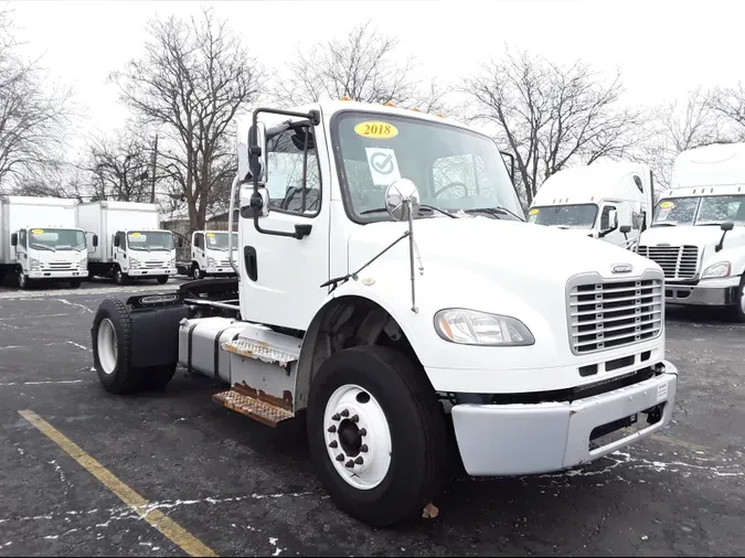
[[[192,228],[204,226],[234,117],[263,87],[263,72],[241,39],[211,9],[200,20],[174,17],[148,23],[141,60],[110,78],[142,120],[157,125],[166,149],[158,158],[182,189]]]

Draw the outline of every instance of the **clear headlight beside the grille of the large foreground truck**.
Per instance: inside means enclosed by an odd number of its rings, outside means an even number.
[[[535,343],[520,320],[451,308],[435,314],[435,330],[445,341],[465,345],[524,346]]]

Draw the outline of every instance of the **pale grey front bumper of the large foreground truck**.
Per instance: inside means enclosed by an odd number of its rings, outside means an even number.
[[[546,473],[588,463],[664,428],[675,404],[678,369],[573,403],[456,405],[453,423],[464,466],[471,476]],[[638,431],[590,449],[590,434],[662,405],[661,418]],[[638,421],[645,420],[638,416]]]

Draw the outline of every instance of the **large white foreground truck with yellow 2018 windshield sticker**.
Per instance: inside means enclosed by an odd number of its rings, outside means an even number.
[[[305,417],[332,501],[376,526],[432,503],[448,442],[470,475],[522,475],[670,422],[662,270],[526,224],[488,136],[344,100],[237,129],[237,278],[104,300],[108,391],[162,387],[181,364],[230,409]]]

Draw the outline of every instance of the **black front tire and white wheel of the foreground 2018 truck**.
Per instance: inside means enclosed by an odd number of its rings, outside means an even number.
[[[422,369],[398,351],[356,346],[312,380],[310,452],[337,507],[375,527],[414,519],[440,487],[444,411]]]

